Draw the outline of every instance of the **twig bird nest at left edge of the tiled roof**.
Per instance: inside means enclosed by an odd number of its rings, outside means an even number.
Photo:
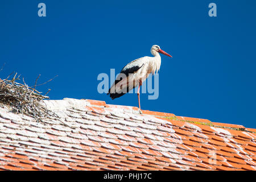
[[[56,117],[56,114],[44,105],[43,100],[49,97],[43,96],[42,92],[35,89],[40,75],[36,78],[35,86],[32,88],[25,83],[24,78],[23,84],[16,82],[20,80],[20,76],[16,77],[16,74],[11,80],[9,80],[10,75],[5,80],[0,78],[0,104],[9,105],[14,113],[22,113],[39,121],[47,116]]]

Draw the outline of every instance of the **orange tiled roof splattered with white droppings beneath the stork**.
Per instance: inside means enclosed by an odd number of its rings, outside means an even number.
[[[43,122],[0,108],[0,170],[255,170],[256,130],[104,101],[44,101]]]

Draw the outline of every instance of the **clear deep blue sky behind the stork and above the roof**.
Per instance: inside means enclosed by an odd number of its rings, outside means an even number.
[[[38,3],[46,3],[46,17]],[[209,17],[208,5],[217,5]],[[49,1],[0,2],[0,77],[15,71],[52,100],[88,98],[137,106],[137,94],[111,100],[97,92],[99,73],[130,61],[162,56],[159,98],[144,110],[206,118],[256,128],[256,1]]]

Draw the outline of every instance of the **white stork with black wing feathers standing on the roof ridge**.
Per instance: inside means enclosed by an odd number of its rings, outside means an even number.
[[[108,94],[110,94],[112,100],[123,96],[123,94],[126,94],[131,89],[138,86],[137,95],[139,101],[139,89],[142,85],[142,82],[146,80],[150,73],[154,75],[154,73],[157,73],[160,69],[161,57],[159,55],[159,52],[163,53],[166,56],[172,57],[171,55],[168,55],[168,53],[160,49],[159,46],[154,45],[151,47],[151,54],[154,57],[144,56],[134,61],[131,61],[125,67],[123,67],[122,71],[119,73],[119,75],[115,79],[115,82],[109,89]],[[141,110],[140,101],[139,110]]]

